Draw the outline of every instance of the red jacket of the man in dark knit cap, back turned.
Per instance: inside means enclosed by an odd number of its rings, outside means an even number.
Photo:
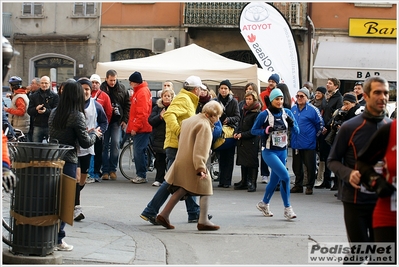
[[[152,126],[148,118],[152,111],[152,95],[147,82],[142,82],[133,88],[133,95],[130,98],[130,113],[126,133],[134,130],[136,133],[150,133]]]

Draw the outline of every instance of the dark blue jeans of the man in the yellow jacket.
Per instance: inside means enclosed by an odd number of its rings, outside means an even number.
[[[176,158],[177,149],[176,148],[166,148],[166,157],[167,157],[167,165],[168,170],[170,165],[172,165],[173,161]],[[157,192],[155,193],[154,197],[151,201],[147,204],[147,207],[141,213],[146,217],[155,217],[157,216],[159,209],[165,203],[165,201],[169,197],[169,184],[164,181],[161,186],[158,188]],[[186,202],[186,209],[188,213],[189,220],[195,220],[199,218],[199,205],[196,202],[196,197],[188,196],[185,200]]]

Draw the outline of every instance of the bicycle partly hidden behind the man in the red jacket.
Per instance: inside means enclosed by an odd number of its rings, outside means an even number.
[[[125,144],[121,150],[119,155],[119,170],[123,177],[130,180],[133,179],[136,171],[136,167],[134,165],[134,145],[133,138],[129,135],[126,138],[127,144]],[[151,139],[148,143],[146,149],[146,158],[147,158],[147,171],[152,172],[154,168],[155,162],[155,151],[151,145]]]

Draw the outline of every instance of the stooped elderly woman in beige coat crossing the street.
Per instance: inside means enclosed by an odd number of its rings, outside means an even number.
[[[198,230],[218,230],[208,219],[208,198],[213,194],[212,179],[206,169],[212,145],[212,131],[223,112],[217,101],[209,101],[204,105],[202,113],[185,119],[182,122],[179,149],[176,159],[165,175],[170,184],[172,196],[165,208],[158,214],[156,222],[174,229],[169,222],[173,208],[187,195],[200,196],[200,216]]]

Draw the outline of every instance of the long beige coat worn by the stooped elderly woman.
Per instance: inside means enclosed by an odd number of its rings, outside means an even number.
[[[165,180],[175,187],[182,187],[195,196],[213,195],[212,179],[206,169],[211,144],[213,123],[202,113],[183,120],[176,158],[165,175]],[[200,180],[197,174],[206,172]]]

